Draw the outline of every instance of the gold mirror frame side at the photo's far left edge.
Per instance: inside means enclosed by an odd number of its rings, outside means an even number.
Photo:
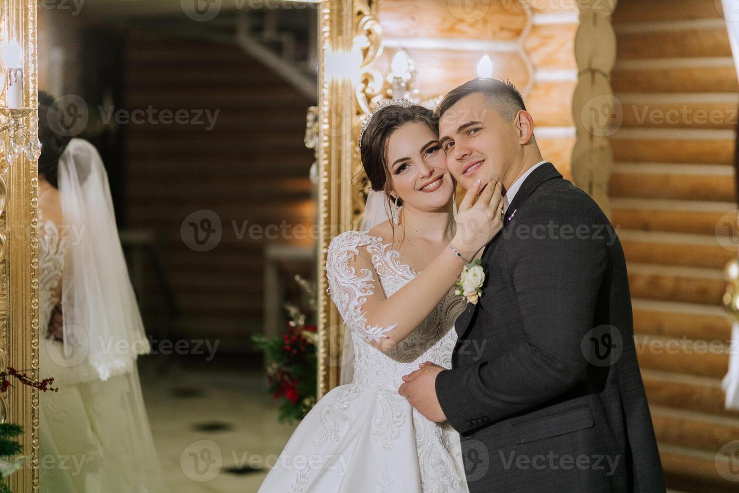
[[[38,145],[36,2],[3,0],[1,8],[0,41],[20,47],[16,58],[20,58],[22,89],[18,95],[11,94],[9,73],[18,68],[7,66],[13,56],[4,53],[0,62],[0,370],[10,366],[38,379],[38,166],[23,152],[16,157],[7,154],[14,136]],[[23,427],[18,441],[27,459],[24,468],[10,476],[10,489],[38,491],[38,390],[11,383],[13,387],[0,394],[0,418]]]

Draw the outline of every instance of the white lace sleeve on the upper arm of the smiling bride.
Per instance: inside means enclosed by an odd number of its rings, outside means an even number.
[[[339,234],[328,248],[326,275],[331,298],[344,323],[351,330],[358,331],[365,340],[377,341],[387,337],[384,334],[398,324],[370,326],[365,318],[363,308],[368,302],[385,299],[369,254],[362,254],[359,249],[369,241],[369,235],[360,231]]]

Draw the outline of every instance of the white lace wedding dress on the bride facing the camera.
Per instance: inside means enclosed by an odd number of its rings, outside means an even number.
[[[457,432],[427,420],[398,395],[403,375],[420,363],[451,367],[454,319],[463,302],[452,289],[394,350],[382,353],[368,344],[381,329],[366,326],[361,307],[367,297],[377,290],[392,296],[417,275],[391,247],[368,231],[347,231],[331,242],[327,277],[351,330],[353,381],[328,392],[305,416],[260,493],[467,491]],[[379,279],[350,266],[360,248],[371,256]]]

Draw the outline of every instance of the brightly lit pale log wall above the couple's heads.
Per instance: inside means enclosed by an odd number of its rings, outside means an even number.
[[[508,78],[522,91],[542,154],[571,178],[579,11],[578,2],[561,3],[382,0],[384,53],[375,67],[387,73],[395,52],[406,50],[425,99],[477,77],[477,63],[488,55],[492,77]]]

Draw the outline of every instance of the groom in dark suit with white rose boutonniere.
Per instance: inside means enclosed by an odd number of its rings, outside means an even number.
[[[508,208],[483,295],[455,324],[452,370],[424,364],[400,394],[460,432],[471,493],[664,492],[607,217],[542,160],[511,84],[469,81],[437,117],[452,175],[502,182]]]

